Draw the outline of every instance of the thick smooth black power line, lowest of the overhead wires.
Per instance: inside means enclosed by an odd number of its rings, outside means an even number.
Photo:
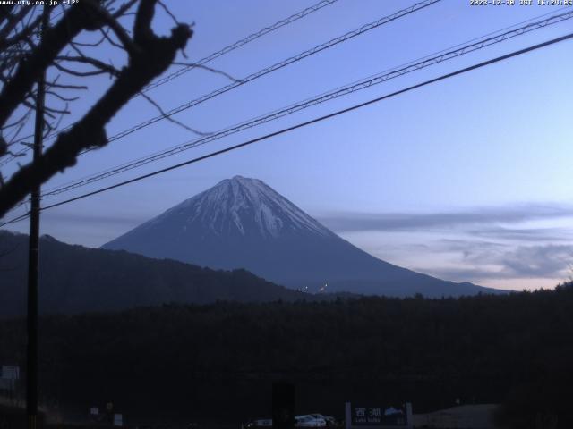
[[[264,136],[261,136],[261,137],[255,138],[255,139],[250,139],[250,140],[244,141],[243,143],[239,143],[235,146],[226,147],[224,149],[220,149],[218,151],[211,152],[210,154],[207,154],[204,156],[198,156],[196,158],[192,158],[188,161],[184,161],[183,163],[171,165],[169,167],[162,168],[160,170],[156,170],[155,172],[149,172],[147,174],[142,174],[141,176],[135,177],[135,178],[130,179],[128,181],[121,181],[119,183],[115,183],[114,185],[107,186],[105,188],[97,189],[97,190],[82,194],[78,197],[69,198],[69,199],[66,199],[64,201],[60,201],[58,203],[55,203],[55,204],[52,204],[49,206],[44,206],[41,208],[41,210],[47,210],[49,208],[54,208],[57,206],[63,206],[65,204],[71,203],[73,201],[77,201],[79,199],[88,198],[88,197],[97,195],[99,193],[106,192],[107,190],[120,188],[122,186],[128,185],[128,184],[136,182],[136,181],[142,181],[143,179],[147,179],[147,178],[150,178],[152,176],[156,176],[156,175],[161,174],[163,172],[169,172],[169,171],[184,167],[185,165],[195,164],[195,163],[198,163],[198,162],[203,161],[205,159],[209,159],[209,158],[214,157],[214,156],[222,155],[222,154],[225,154],[227,152],[231,152],[235,149],[239,149],[242,147],[247,147],[247,146],[250,146],[254,143],[258,143],[262,140],[270,139],[272,137],[276,137],[278,135],[285,134],[285,133],[290,132],[292,130],[297,130],[297,129],[306,127],[306,126],[311,125],[311,124],[316,123],[316,122],[326,121],[326,120],[331,119],[333,117],[336,117],[338,115],[346,114],[348,112],[355,111],[355,110],[360,109],[360,108],[367,106],[367,105],[373,105],[375,103],[379,103],[382,100],[385,100],[385,99],[388,99],[391,97],[397,97],[398,95],[404,94],[406,92],[412,91],[412,90],[417,89],[417,88],[422,88],[422,87],[425,87],[427,85],[431,85],[432,83],[439,82],[440,80],[446,80],[446,79],[452,78],[454,76],[458,76],[460,74],[466,73],[468,71],[474,71],[476,69],[485,67],[487,65],[491,65],[493,63],[500,63],[501,61],[508,60],[509,58],[513,58],[513,57],[518,56],[518,55],[524,55],[528,52],[532,52],[532,51],[535,51],[537,49],[541,49],[541,48],[546,47],[546,46],[551,46],[551,45],[554,45],[556,43],[560,43],[562,41],[569,40],[571,38],[573,38],[573,33],[569,33],[565,36],[561,36],[560,38],[552,38],[551,40],[547,40],[545,42],[542,42],[542,43],[539,43],[539,44],[536,44],[533,46],[528,46],[526,48],[519,49],[517,51],[513,51],[513,52],[506,54],[506,55],[500,55],[498,57],[492,58],[491,60],[483,61],[482,63],[476,63],[474,65],[465,67],[463,69],[459,69],[457,71],[452,71],[452,72],[449,72],[447,74],[442,74],[437,78],[433,78],[431,80],[425,80],[422,83],[418,83],[418,84],[412,85],[412,86],[407,87],[407,88],[399,89],[398,91],[386,94],[384,96],[376,97],[376,98],[373,98],[371,100],[365,101],[363,103],[360,103],[357,105],[352,105],[350,107],[346,107],[345,109],[338,110],[338,111],[333,112],[331,114],[326,114],[326,115],[320,116],[318,118],[314,118],[310,121],[300,122],[300,123],[297,123],[296,125],[293,125],[291,127],[287,127],[287,128],[282,129],[282,130],[274,131],[274,132],[271,132],[269,134],[266,134]],[[27,217],[27,214],[23,214],[23,215],[19,216],[19,218],[13,219],[13,220],[8,221],[6,223],[2,223],[2,224],[0,224],[0,227],[4,226],[6,224],[9,224],[9,223],[17,222],[17,220],[21,220],[21,218],[25,218],[22,216]]]

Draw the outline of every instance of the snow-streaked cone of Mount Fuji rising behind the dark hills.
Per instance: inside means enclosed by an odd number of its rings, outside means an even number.
[[[109,241],[107,249],[215,269],[244,268],[292,289],[404,297],[492,290],[372,257],[256,179],[235,176]]]

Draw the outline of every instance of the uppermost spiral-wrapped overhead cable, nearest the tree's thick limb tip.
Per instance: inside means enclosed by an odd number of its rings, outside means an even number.
[[[256,40],[257,38],[261,38],[261,37],[273,32],[277,29],[280,29],[282,27],[285,27],[288,24],[291,24],[295,21],[302,19],[305,16],[310,15],[311,13],[315,13],[317,11],[320,11],[323,7],[329,6],[330,4],[335,4],[336,2],[338,2],[338,0],[321,0],[319,3],[313,4],[312,6],[307,7],[306,9],[304,9],[300,12],[293,13],[292,15],[290,15],[290,16],[288,16],[288,17],[286,17],[280,21],[277,21],[274,24],[269,25],[268,27],[264,27],[263,29],[260,29],[259,31],[256,31],[256,32],[250,34],[246,38],[242,38],[240,40],[237,40],[235,43],[232,43],[231,45],[225,46],[222,49],[219,49],[217,52],[213,52],[212,54],[201,58],[196,63],[189,64],[186,67],[184,67],[178,71],[175,71],[175,72],[167,75],[164,78],[157,80],[156,82],[151,82],[145,88],[142,88],[141,91],[133,97],[138,97],[139,95],[141,95],[141,93],[150,91],[151,89],[154,89],[154,88],[158,88],[161,85],[164,85],[167,82],[174,80],[174,79],[178,78],[179,76],[184,75],[187,71],[191,71],[192,69],[195,69],[197,67],[201,67],[201,65],[204,65],[206,63],[210,63],[211,61],[217,59],[219,56],[226,55],[229,52],[234,51],[235,49],[238,49],[241,46],[244,46],[244,45],[247,45],[248,43],[251,43],[252,41]],[[52,17],[52,20],[54,20],[56,17],[60,16],[63,13],[64,12],[57,13],[55,16]],[[48,134],[46,136],[46,139],[53,139],[59,133],[65,131],[65,130],[71,129],[73,127],[73,125],[75,125],[75,122],[64,127],[64,129],[62,129],[62,130],[58,130],[58,131],[55,131],[51,134]],[[30,137],[33,137],[33,136],[22,137],[21,139],[18,139],[16,141],[14,141],[13,143],[18,143],[18,142],[23,141],[25,139],[30,139]],[[13,156],[12,158],[9,158],[8,160],[4,160],[3,162],[0,162],[0,166],[8,164],[14,158],[16,158],[20,155],[26,154],[26,152],[28,152],[29,150],[30,150],[29,147],[22,149],[21,152],[16,154],[16,156]]]

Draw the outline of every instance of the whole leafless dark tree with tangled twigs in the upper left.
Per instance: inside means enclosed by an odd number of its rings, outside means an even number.
[[[168,37],[152,29],[158,6],[175,21]],[[50,13],[56,23],[47,26],[40,39],[43,13]],[[78,80],[106,74],[112,82],[72,127],[56,134],[37,162],[19,166],[6,181],[0,173],[0,218],[31,189],[76,164],[81,152],[106,146],[107,122],[166,71],[192,37],[191,27],[177,22],[160,0],[81,0],[61,10],[57,20],[54,16],[56,9],[48,7],[0,6],[0,161],[19,156],[18,149],[26,144],[19,136],[36,107],[35,83],[41,73],[51,71],[46,84],[51,102],[44,110],[45,134],[57,133],[62,116],[78,98],[73,91],[87,88]],[[126,21],[132,23],[131,30]],[[86,34],[90,42],[85,41]],[[124,52],[123,67],[116,68],[104,59],[107,47]]]

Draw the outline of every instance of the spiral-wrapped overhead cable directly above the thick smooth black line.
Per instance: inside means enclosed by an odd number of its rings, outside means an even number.
[[[458,48],[450,50],[450,51],[447,51],[447,50],[441,51],[440,55],[435,55],[432,57],[428,57],[428,56],[424,57],[424,59],[422,61],[419,61],[417,63],[408,63],[404,67],[401,67],[398,69],[392,69],[392,71],[381,73],[378,75],[374,75],[374,76],[371,76],[369,78],[366,78],[365,80],[356,81],[355,83],[346,85],[345,87],[337,88],[333,91],[323,93],[318,97],[312,97],[312,98],[309,98],[307,100],[304,100],[303,102],[297,103],[295,105],[289,105],[288,107],[283,108],[281,110],[274,111],[272,113],[265,114],[265,115],[259,116],[257,118],[254,118],[252,120],[239,123],[235,126],[228,127],[227,129],[224,129],[224,130],[219,130],[219,131],[217,131],[217,132],[215,132],[209,136],[205,136],[205,137],[202,137],[200,139],[189,140],[187,142],[184,142],[181,145],[171,147],[171,148],[164,150],[164,151],[160,151],[160,152],[153,154],[151,156],[142,157],[142,158],[134,160],[132,162],[121,164],[119,166],[112,167],[111,169],[107,169],[103,172],[99,172],[99,173],[90,175],[89,177],[87,177],[85,179],[81,179],[80,181],[73,181],[69,184],[66,184],[66,185],[63,185],[63,186],[60,186],[60,187],[57,187],[54,189],[48,189],[42,195],[42,197],[46,198],[46,197],[50,197],[50,196],[55,196],[55,195],[64,193],[66,191],[72,190],[72,189],[81,188],[82,186],[86,186],[90,183],[100,181],[103,179],[107,179],[108,177],[114,176],[115,174],[119,174],[121,172],[127,172],[127,171],[133,170],[135,168],[139,168],[145,164],[150,164],[152,162],[156,162],[156,161],[163,159],[167,156],[173,156],[173,155],[181,153],[185,150],[189,150],[192,147],[202,146],[204,144],[210,143],[211,141],[214,141],[217,139],[222,139],[222,138],[227,137],[229,135],[235,134],[236,132],[250,129],[250,128],[253,128],[255,126],[259,126],[263,123],[266,123],[266,122],[277,120],[277,119],[282,118],[282,117],[289,115],[289,114],[294,114],[295,112],[299,112],[299,111],[304,110],[306,108],[309,108],[313,105],[319,105],[319,104],[325,103],[329,100],[332,100],[332,99],[335,99],[338,97],[343,97],[343,96],[346,96],[348,94],[354,93],[356,91],[359,91],[359,90],[362,90],[365,88],[370,88],[374,85],[379,85],[379,84],[381,84],[387,80],[391,80],[394,78],[398,78],[399,76],[403,76],[406,73],[410,73],[412,71],[418,71],[418,70],[421,70],[425,67],[429,67],[431,65],[434,65],[437,63],[442,63],[444,61],[448,61],[452,58],[456,58],[456,57],[461,56],[461,55],[466,55],[466,54],[469,54],[471,52],[475,52],[476,50],[483,49],[484,47],[492,46],[494,44],[498,44],[498,43],[501,43],[505,40],[508,40],[510,38],[516,38],[517,36],[521,36],[523,34],[531,32],[535,29],[541,29],[541,28],[544,28],[548,25],[552,25],[552,24],[555,24],[555,23],[560,22],[560,21],[566,21],[566,20],[569,20],[571,18],[573,18],[573,11],[570,11],[569,13],[561,13],[559,15],[552,16],[546,20],[536,21],[536,22],[527,24],[524,27],[520,27],[518,29],[507,31],[505,33],[499,34],[499,35],[491,37],[491,38],[477,39],[477,41],[475,43],[471,43],[471,44],[467,44],[467,45],[461,45]]]

